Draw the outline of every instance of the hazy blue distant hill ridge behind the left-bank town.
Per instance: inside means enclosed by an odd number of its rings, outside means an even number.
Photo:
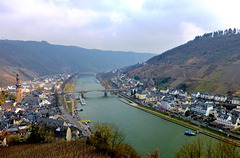
[[[37,75],[71,72],[99,72],[144,62],[153,54],[84,49],[52,45],[46,41],[0,40],[0,85]]]

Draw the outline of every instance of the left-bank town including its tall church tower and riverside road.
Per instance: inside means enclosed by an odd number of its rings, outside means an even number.
[[[17,74],[16,85],[1,87],[0,145],[86,139],[86,126],[62,106],[60,94],[71,78],[60,74],[21,83]]]

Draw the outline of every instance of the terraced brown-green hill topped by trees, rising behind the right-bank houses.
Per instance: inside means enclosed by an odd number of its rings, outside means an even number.
[[[160,87],[226,93],[240,89],[240,34],[207,33],[127,69],[131,77],[154,78]]]

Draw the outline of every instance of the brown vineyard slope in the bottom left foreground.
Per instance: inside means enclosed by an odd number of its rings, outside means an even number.
[[[83,140],[54,142],[45,144],[25,144],[0,149],[0,157],[108,157],[95,148],[86,145]]]

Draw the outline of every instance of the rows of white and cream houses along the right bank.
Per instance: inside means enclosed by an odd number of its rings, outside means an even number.
[[[188,94],[183,90],[166,87],[157,90],[152,79],[145,79],[140,82],[133,78],[127,78],[125,75],[119,76],[121,78],[115,77],[112,82],[118,88],[125,88],[126,95],[137,99],[145,106],[173,114],[184,115],[189,111],[191,114],[201,117],[209,117],[210,115],[213,117],[214,121],[212,123],[215,125],[229,129],[240,128],[240,106],[228,111],[219,104],[240,105],[240,98],[238,97],[200,92]]]

